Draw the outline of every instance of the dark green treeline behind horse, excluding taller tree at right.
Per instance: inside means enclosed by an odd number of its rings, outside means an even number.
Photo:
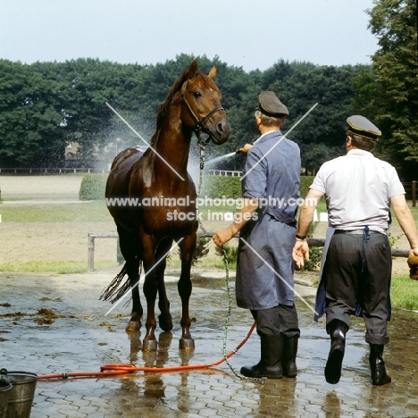
[[[115,146],[116,138],[120,138],[119,149],[140,144],[106,102],[141,136],[151,138],[159,104],[193,58],[181,54],[175,61],[157,65],[94,59],[29,65],[0,61],[0,164],[63,166],[63,150],[69,143],[79,144],[82,164],[104,155],[106,146]],[[275,91],[287,104],[290,115],[284,131],[318,103],[288,134],[301,146],[305,167],[315,170],[341,153],[345,120],[353,112],[352,80],[364,71],[363,66],[280,61],[267,71],[247,73],[217,58],[201,56],[198,63],[205,72],[217,65],[216,82],[232,126],[230,141],[222,147],[209,146],[208,158],[256,138],[254,110],[262,90]],[[222,168],[240,169],[242,160],[227,160]]]

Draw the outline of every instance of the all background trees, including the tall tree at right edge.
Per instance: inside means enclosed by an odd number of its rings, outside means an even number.
[[[402,180],[416,180],[416,3],[378,0],[369,14],[372,33],[380,38],[371,65],[280,60],[266,71],[246,72],[217,57],[197,57],[201,71],[217,65],[215,81],[232,127],[230,141],[208,146],[206,160],[254,141],[258,95],[272,90],[288,106],[283,131],[299,144],[306,172],[314,174],[324,161],[345,153],[347,116],[363,114],[383,133],[375,154],[393,163]],[[180,54],[156,65],[97,59],[33,64],[0,60],[0,166],[63,167],[70,143],[79,144],[77,163],[91,166],[93,161],[111,161],[118,149],[141,145],[105,103],[149,140],[159,104],[194,58]],[[312,113],[301,120],[314,104]],[[242,166],[243,157],[236,156],[217,168]]]

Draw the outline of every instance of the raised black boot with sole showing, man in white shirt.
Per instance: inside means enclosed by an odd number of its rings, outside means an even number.
[[[330,355],[325,366],[325,379],[328,383],[335,385],[341,377],[341,367],[346,349],[346,333],[348,327],[346,323],[334,320],[328,326],[330,332]]]

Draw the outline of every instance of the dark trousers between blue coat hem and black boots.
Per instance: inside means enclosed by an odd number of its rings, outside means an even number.
[[[295,305],[278,305],[269,309],[251,310],[251,314],[257,322],[258,335],[283,335],[285,339],[300,335]]]

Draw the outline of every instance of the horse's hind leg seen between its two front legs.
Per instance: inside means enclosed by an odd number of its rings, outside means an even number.
[[[160,324],[160,328],[164,331],[171,331],[172,330],[172,318],[170,314],[170,301],[168,300],[167,293],[165,291],[165,283],[164,283],[164,271],[165,266],[167,264],[167,255],[170,251],[172,244],[171,238],[163,239],[158,244],[158,247],[155,252],[155,260],[160,263],[155,266],[155,279],[157,280],[158,286],[158,307],[160,308],[160,316],[158,316],[158,322]]]

